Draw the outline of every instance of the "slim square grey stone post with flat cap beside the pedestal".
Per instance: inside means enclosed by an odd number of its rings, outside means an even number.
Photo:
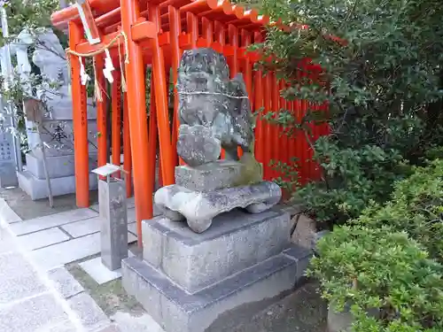
[[[98,206],[102,263],[111,271],[121,267],[121,259],[128,258],[128,210],[126,202],[126,174],[119,166],[106,164],[92,171],[105,176],[98,179]],[[111,177],[120,172],[123,180]]]

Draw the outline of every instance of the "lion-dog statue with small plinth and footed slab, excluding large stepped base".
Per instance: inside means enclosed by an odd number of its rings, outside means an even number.
[[[177,90],[177,152],[187,165],[175,167],[175,184],[155,193],[163,214],[186,220],[201,233],[222,212],[239,207],[260,213],[276,205],[282,190],[263,181],[262,166],[253,157],[251,105],[242,75],[229,80],[226,59],[214,50],[187,50]],[[239,161],[238,147],[243,151]],[[219,160],[221,149],[224,160]]]

